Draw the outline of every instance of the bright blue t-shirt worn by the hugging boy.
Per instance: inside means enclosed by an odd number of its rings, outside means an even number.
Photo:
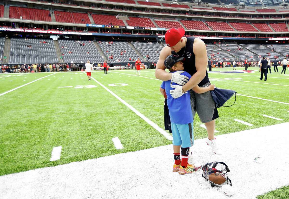
[[[181,75],[187,76],[189,79],[192,77],[189,73],[184,72]],[[172,85],[179,85],[175,82]],[[190,91],[183,94],[181,97],[174,99],[170,94],[170,90],[175,88],[171,87],[171,80],[162,82],[162,89],[166,89],[168,110],[170,113],[171,122],[175,124],[190,124],[193,122],[193,114],[191,108]]]

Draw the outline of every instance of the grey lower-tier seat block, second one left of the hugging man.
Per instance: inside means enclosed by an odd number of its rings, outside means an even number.
[[[109,45],[108,42],[101,41],[98,44],[110,62],[117,62],[116,60],[120,60],[120,62],[128,62],[129,58],[133,61],[137,60],[139,57],[136,51],[134,51],[127,42],[114,41],[112,45]],[[121,51],[123,51],[123,55],[121,55]],[[109,59],[110,55],[113,55],[113,59]],[[140,60],[143,62],[143,58],[140,57]]]

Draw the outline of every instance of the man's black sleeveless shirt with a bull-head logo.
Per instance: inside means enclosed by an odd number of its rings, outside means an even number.
[[[184,71],[188,72],[190,75],[193,76],[197,72],[196,64],[195,64],[195,55],[193,52],[194,40],[196,37],[186,37],[186,38],[187,38],[186,46],[183,47],[177,53],[175,53],[175,51],[172,51],[172,55],[185,57],[186,59],[183,60]],[[206,71],[205,78],[198,84],[198,86],[203,86],[204,84],[208,82],[210,82],[210,80],[209,80],[208,72]]]

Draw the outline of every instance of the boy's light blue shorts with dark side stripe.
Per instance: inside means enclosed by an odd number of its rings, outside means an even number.
[[[193,123],[175,124],[171,122],[171,127],[173,132],[173,145],[181,145],[182,148],[194,145]]]

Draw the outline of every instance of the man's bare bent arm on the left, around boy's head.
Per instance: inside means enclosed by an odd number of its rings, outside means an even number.
[[[166,72],[166,67],[164,66],[164,60],[169,55],[171,55],[171,49],[170,47],[165,46],[160,52],[160,58],[155,67],[155,78],[162,81],[168,81],[172,79],[172,74]]]

